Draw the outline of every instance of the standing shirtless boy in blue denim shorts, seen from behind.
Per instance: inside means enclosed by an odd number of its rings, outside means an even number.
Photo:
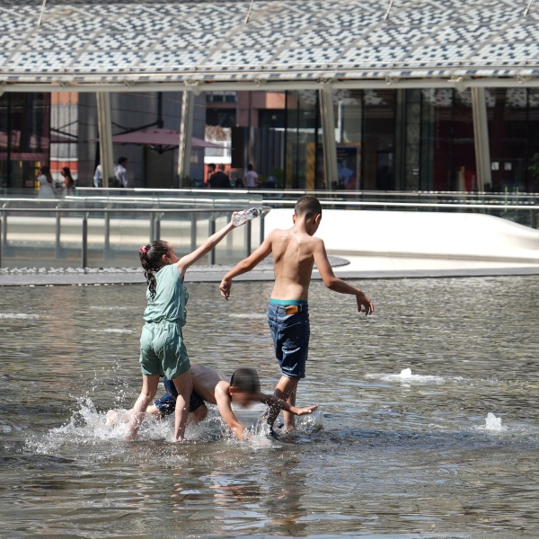
[[[320,220],[322,206],[315,197],[302,197],[294,208],[294,225],[287,230],[276,229],[261,243],[251,256],[238,262],[219,286],[221,296],[230,297],[232,279],[251,271],[270,253],[273,254],[275,283],[268,308],[268,322],[275,344],[275,355],[282,376],[274,395],[290,405],[296,403],[297,383],[305,377],[305,362],[309,345],[310,326],[308,295],[314,264],[323,283],[340,294],[356,296],[358,311],[371,314],[374,306],[359,288],[335,277],[323,240],[313,237]],[[268,418],[270,427],[277,419],[278,410],[272,409]],[[286,429],[294,429],[294,417],[283,411]]]

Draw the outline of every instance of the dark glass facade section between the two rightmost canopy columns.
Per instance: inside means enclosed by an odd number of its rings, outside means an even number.
[[[334,99],[339,169],[341,145],[356,146],[356,189],[458,190],[462,173],[475,171],[469,91],[341,91]],[[339,178],[338,188],[347,186]]]

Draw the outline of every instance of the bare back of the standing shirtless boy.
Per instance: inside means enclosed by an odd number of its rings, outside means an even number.
[[[314,252],[322,240],[307,234],[298,226],[274,230],[269,240],[275,271],[271,297],[306,301],[313,274]]]

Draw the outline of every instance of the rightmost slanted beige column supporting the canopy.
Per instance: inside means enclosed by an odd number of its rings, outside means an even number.
[[[471,88],[473,113],[473,139],[475,144],[475,166],[477,168],[477,190],[484,191],[491,185],[489,122],[484,88]]]

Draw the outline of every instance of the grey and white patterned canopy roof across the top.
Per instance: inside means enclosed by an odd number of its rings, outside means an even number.
[[[539,10],[525,16],[525,4],[399,0],[384,20],[387,0],[48,0],[38,27],[41,0],[0,0],[0,83],[115,73],[181,81],[195,67],[220,81],[537,75]]]

